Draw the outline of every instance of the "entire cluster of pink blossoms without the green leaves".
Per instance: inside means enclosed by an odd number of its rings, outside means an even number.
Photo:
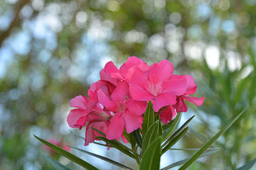
[[[100,71],[100,80],[88,90],[88,98],[77,96],[70,101],[71,110],[67,122],[70,127],[81,129],[86,126],[84,145],[102,136],[108,139],[126,139],[127,133],[141,128],[143,113],[148,101],[159,114],[161,122],[168,124],[179,112],[188,107],[184,99],[201,106],[204,97],[191,97],[196,92],[196,83],[192,76],[173,74],[173,65],[168,60],[148,66],[137,57],[129,59],[118,69],[108,62]]]

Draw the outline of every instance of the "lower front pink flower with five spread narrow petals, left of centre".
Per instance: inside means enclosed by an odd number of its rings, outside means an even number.
[[[120,138],[124,129],[127,133],[131,133],[141,126],[143,122],[141,115],[145,112],[147,103],[131,99],[127,82],[119,81],[110,97],[102,90],[99,90],[98,96],[99,102],[111,111],[113,116],[106,130],[108,139]]]

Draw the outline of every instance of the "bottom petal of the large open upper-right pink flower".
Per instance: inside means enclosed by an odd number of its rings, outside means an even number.
[[[159,111],[161,108],[164,106],[169,106],[175,104],[176,101],[176,96],[174,92],[165,92],[159,94],[153,104],[154,111]]]

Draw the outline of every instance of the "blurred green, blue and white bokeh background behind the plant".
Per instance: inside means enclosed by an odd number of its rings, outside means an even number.
[[[176,148],[200,148],[249,105],[218,139],[220,152],[190,169],[236,169],[256,157],[256,0],[1,0],[0,169],[51,169],[33,134],[59,139],[134,167],[102,146],[83,146],[68,127],[69,101],[87,96],[109,60],[120,66],[137,56],[148,64],[168,59],[177,74],[191,74],[203,106],[182,114],[188,135]],[[181,121],[181,122],[182,122]],[[71,150],[100,167],[110,164]],[[112,153],[113,152],[113,153]],[[191,152],[170,151],[161,167]]]

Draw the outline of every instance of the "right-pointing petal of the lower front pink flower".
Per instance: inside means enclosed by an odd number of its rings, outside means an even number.
[[[126,106],[131,113],[139,116],[145,113],[145,110],[147,108],[147,103],[143,101],[134,101],[132,99],[129,99],[126,103]]]

